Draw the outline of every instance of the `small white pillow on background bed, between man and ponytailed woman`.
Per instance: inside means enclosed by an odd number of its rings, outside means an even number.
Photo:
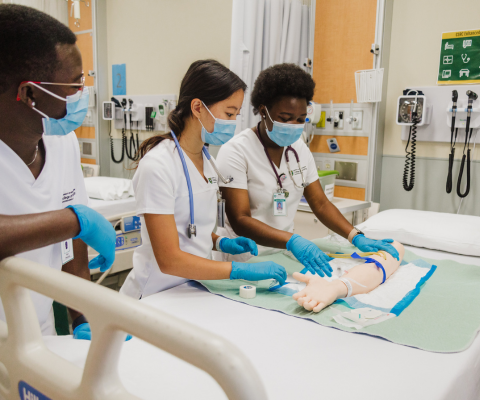
[[[94,176],[85,178],[88,197],[100,200],[122,200],[133,196],[131,179]]]

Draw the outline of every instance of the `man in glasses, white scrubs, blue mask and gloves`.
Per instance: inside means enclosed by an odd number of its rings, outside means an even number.
[[[0,38],[0,226],[8,223],[11,230],[11,237],[0,236],[0,255],[20,252],[22,258],[90,279],[87,244],[100,252],[91,267],[105,270],[113,263],[115,232],[86,207],[78,141],[71,132],[88,104],[76,37],[44,13],[0,5]],[[46,218],[58,221],[56,229]],[[35,223],[41,225],[28,226]],[[73,241],[65,240],[72,236]],[[31,296],[42,333],[55,334],[52,300]],[[70,314],[74,337],[89,338],[85,318],[75,310]],[[1,304],[0,319],[5,320]]]

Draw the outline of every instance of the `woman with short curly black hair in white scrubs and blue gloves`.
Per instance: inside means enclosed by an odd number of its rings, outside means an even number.
[[[314,88],[311,76],[294,64],[278,64],[258,76],[251,102],[261,122],[235,136],[218,153],[219,169],[231,175],[233,182],[219,183],[227,221],[217,234],[253,239],[262,255],[286,248],[312,273],[330,276],[329,257],[309,240],[293,234],[293,219],[304,195],[329,229],[353,240],[362,251],[385,250],[398,259],[397,250],[389,244],[393,240],[365,238],[323,193],[313,155],[300,138]],[[248,257],[215,254],[223,260],[245,261]]]

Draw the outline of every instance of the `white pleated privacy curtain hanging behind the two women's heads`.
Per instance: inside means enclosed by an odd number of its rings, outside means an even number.
[[[301,67],[308,56],[310,1],[233,0],[230,69],[248,85],[238,131],[260,120],[250,93],[260,71],[274,64]]]

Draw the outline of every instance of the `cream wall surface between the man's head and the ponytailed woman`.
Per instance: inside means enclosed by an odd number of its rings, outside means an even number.
[[[232,0],[107,0],[110,94],[112,64],[127,64],[129,95],[178,94],[195,60],[228,66],[231,20]]]

